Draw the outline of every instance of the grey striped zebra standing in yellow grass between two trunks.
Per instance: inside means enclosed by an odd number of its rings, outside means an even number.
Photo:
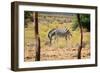
[[[60,28],[53,28],[48,32],[48,38],[50,41],[50,44],[52,43],[52,38],[55,36],[55,38],[59,37],[65,37],[65,39],[70,39],[72,36],[71,32],[68,29],[60,29]]]

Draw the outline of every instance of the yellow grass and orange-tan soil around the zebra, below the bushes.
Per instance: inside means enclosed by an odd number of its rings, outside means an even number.
[[[71,23],[68,24],[57,24],[54,22],[52,24],[40,24],[39,25],[39,37],[41,41],[41,60],[64,60],[64,59],[76,59],[78,47],[80,44],[80,31],[72,31]],[[48,43],[49,39],[47,37],[48,32],[53,28],[65,28],[67,27],[71,33],[72,37],[67,41],[64,38],[58,38],[53,40],[52,45]],[[82,59],[90,58],[90,33],[83,33],[83,49],[82,49]],[[35,60],[35,33],[34,25],[29,24],[25,28],[25,61],[30,62]]]

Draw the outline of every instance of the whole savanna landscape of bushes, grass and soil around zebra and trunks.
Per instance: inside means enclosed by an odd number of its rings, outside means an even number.
[[[81,59],[90,57],[90,15],[71,13],[47,13],[38,12],[38,30],[40,38],[40,60],[64,60],[77,59],[78,49],[81,46]],[[80,44],[82,26],[82,44]],[[53,38],[49,43],[48,32],[51,29],[68,29],[72,36],[65,40],[63,37]],[[35,61],[36,35],[35,12],[25,12],[25,61]]]

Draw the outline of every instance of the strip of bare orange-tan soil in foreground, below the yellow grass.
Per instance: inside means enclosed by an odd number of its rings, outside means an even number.
[[[77,48],[52,48],[45,47],[41,48],[40,60],[68,60],[68,59],[77,59]],[[90,49],[82,48],[82,59],[90,58]],[[35,61],[35,48],[26,48],[25,49],[25,58],[26,62]]]

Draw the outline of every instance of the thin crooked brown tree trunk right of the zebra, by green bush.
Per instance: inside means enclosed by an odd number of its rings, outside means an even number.
[[[80,14],[77,14],[77,19],[78,19],[78,24],[79,24],[79,28],[80,28],[80,35],[81,35],[80,46],[78,48],[78,56],[77,56],[77,58],[81,59],[81,50],[82,50],[82,44],[83,44],[83,31],[82,31],[82,24],[80,22]]]

